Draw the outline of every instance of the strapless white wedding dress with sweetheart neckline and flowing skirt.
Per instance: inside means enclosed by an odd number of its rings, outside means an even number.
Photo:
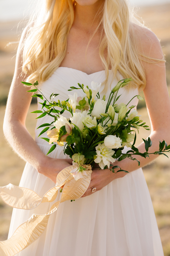
[[[109,71],[109,79],[111,79]],[[66,100],[70,86],[77,83],[90,87],[91,82],[102,82],[105,71],[86,73],[66,67],[59,67],[52,76],[45,81],[42,93],[49,98],[51,93],[59,93],[57,99]],[[117,81],[112,82],[112,88]],[[103,88],[101,88],[102,90]],[[83,96],[82,90],[77,90],[78,96]],[[110,93],[106,94],[106,99]],[[137,89],[120,89],[119,103],[128,103],[138,94]],[[38,99],[39,100],[39,99]],[[130,105],[137,105],[134,98]],[[38,104],[38,109],[42,107]],[[51,117],[37,119],[37,126],[52,122]],[[35,141],[40,149],[47,154],[51,145],[41,139],[40,128],[36,131]],[[56,149],[49,155],[55,158],[65,158],[63,147]],[[46,176],[39,174],[29,163],[26,163],[19,184],[34,190],[39,196],[43,195],[55,184]],[[59,199],[60,193],[58,193]],[[33,213],[44,214],[52,203],[44,203],[33,210],[13,209],[9,237],[16,228],[30,218]],[[148,187],[139,168],[118,178],[102,190],[91,196],[61,203],[57,212],[50,216],[44,233],[33,244],[17,256],[163,256],[160,235],[154,215],[152,201]]]

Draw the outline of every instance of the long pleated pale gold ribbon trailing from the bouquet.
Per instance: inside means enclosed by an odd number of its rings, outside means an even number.
[[[0,241],[0,255],[13,256],[20,252],[41,236],[44,232],[48,219],[54,213],[60,203],[67,200],[80,198],[87,190],[90,180],[92,167],[91,165],[83,165],[86,168],[87,175],[84,178],[75,181],[70,171],[75,166],[69,166],[58,173],[56,186],[51,188],[43,198],[37,195],[33,190],[8,184],[0,187],[0,196],[2,200],[9,206],[32,210],[44,202],[53,202],[58,194],[58,189],[63,187],[61,199],[54,203],[50,211],[45,214],[33,214],[27,221],[22,223],[8,240]]]

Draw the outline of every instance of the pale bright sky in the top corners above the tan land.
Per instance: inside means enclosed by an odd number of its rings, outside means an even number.
[[[0,22],[19,20],[24,13],[28,13],[30,2],[35,0],[0,0]],[[170,0],[129,0],[135,6],[162,4]]]

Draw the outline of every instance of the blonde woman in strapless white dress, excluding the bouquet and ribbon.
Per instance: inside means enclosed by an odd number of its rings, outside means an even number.
[[[67,99],[70,86],[91,81],[102,81],[107,97],[109,85],[112,88],[121,76],[134,79],[120,98],[125,103],[143,89],[151,119],[152,152],[159,147],[158,139],[169,144],[170,102],[163,53],[151,31],[129,22],[126,0],[44,1],[21,37],[4,119],[7,140],[27,161],[20,187],[43,196],[54,186],[57,174],[72,163],[59,147],[45,156],[47,143],[37,136],[35,142],[28,133],[25,118],[31,93],[21,81],[38,80],[46,97],[57,92]],[[40,124],[38,119],[37,127]],[[144,143],[138,148],[144,151]],[[140,166],[155,157],[139,157]],[[142,169],[127,158],[119,166],[129,173],[94,168],[82,198],[62,203],[42,236],[17,255],[163,255]],[[97,188],[95,193],[92,187]],[[9,237],[33,213],[49,209],[49,204],[30,211],[14,209]]]

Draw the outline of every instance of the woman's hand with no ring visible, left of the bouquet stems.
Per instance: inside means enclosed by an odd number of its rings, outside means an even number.
[[[52,157],[45,156],[37,171],[46,177],[50,178],[54,183],[56,183],[56,177],[58,173],[64,168],[72,165],[72,159],[56,159]]]

